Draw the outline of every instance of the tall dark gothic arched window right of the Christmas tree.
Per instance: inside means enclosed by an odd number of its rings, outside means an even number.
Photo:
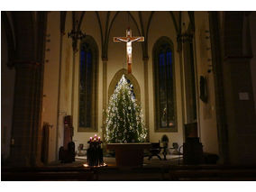
[[[161,37],[153,47],[155,131],[177,132],[173,43]]]

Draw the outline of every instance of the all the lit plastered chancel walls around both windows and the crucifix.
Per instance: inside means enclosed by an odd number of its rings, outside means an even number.
[[[184,14],[185,12],[183,12]],[[50,36],[52,43],[50,43],[50,55],[46,55],[46,58],[49,58],[49,63],[47,64],[49,66],[49,71],[45,70],[45,77],[52,76],[52,78],[56,78],[55,82],[58,82],[58,76],[56,74],[59,73],[59,16],[54,15],[56,13],[50,12],[50,20],[51,22],[48,23],[49,28],[48,31],[54,31],[53,33],[56,33],[55,36]],[[137,13],[132,13],[134,17],[137,20],[137,23],[139,23],[139,20],[136,16]],[[208,53],[206,53],[204,50],[202,50],[202,43],[205,43],[201,40],[205,40],[205,37],[201,35],[201,31],[203,30],[204,26],[206,27],[208,25],[208,15],[205,15],[204,13],[195,13],[196,18],[196,55],[197,55],[197,75],[198,77],[202,74],[208,75],[208,84],[210,87],[213,87],[213,74],[206,74],[206,68],[205,68],[205,60],[208,57]],[[105,12],[100,12],[101,20],[104,23],[105,22]],[[186,14],[185,14],[186,15]],[[111,17],[112,18],[112,17]],[[50,21],[49,20],[49,21]],[[183,23],[185,25],[183,26],[183,30],[187,30],[187,23],[188,23],[188,16],[184,16]],[[71,12],[67,13],[66,17],[66,29],[65,34],[62,37],[62,51],[61,51],[61,80],[60,80],[60,94],[59,94],[59,131],[56,136],[56,123],[57,123],[57,93],[58,93],[58,86],[55,85],[56,83],[52,83],[52,81],[49,81],[47,79],[47,83],[44,83],[44,91],[48,91],[50,94],[53,94],[50,98],[52,100],[48,105],[54,105],[56,106],[54,110],[50,110],[50,108],[47,111],[47,116],[44,116],[42,118],[43,121],[49,121],[49,123],[53,124],[53,129],[55,130],[55,135],[52,133],[52,140],[54,142],[57,142],[58,138],[58,145],[54,147],[54,149],[59,149],[60,146],[63,145],[63,117],[64,115],[71,114],[71,95],[72,95],[72,69],[73,69],[73,50],[72,50],[72,40],[68,38],[68,32],[72,29],[72,14]],[[125,56],[125,43],[123,42],[113,42],[114,36],[125,36],[125,29],[130,26],[133,30],[133,36],[138,36],[139,32],[137,31],[137,28],[135,27],[135,24],[133,23],[132,19],[128,22],[127,20],[127,14],[124,12],[121,12],[114,21],[113,27],[110,32],[109,36],[109,44],[108,44],[108,61],[107,61],[107,82],[106,82],[106,96],[108,100],[108,88],[110,85],[111,80],[114,78],[114,75],[117,71],[120,69],[126,69],[126,56]],[[207,26],[208,27],[208,26]],[[94,38],[96,41],[97,47],[98,47],[98,119],[97,119],[97,129],[98,132],[96,134],[99,134],[102,136],[102,111],[103,111],[103,62],[102,62],[102,46],[101,46],[101,37],[100,37],[100,29],[99,25],[96,20],[96,14],[95,12],[86,12],[82,25],[81,25],[81,31],[86,32],[87,35],[90,35]],[[105,32],[105,30],[103,30]],[[49,33],[49,32],[48,32]],[[176,102],[177,102],[177,126],[178,126],[178,133],[155,133],[155,123],[154,123],[154,90],[153,90],[153,66],[152,66],[152,49],[154,46],[154,43],[159,40],[160,37],[167,36],[171,41],[173,41],[174,45],[174,59],[175,59],[175,87],[176,87]],[[53,37],[56,38],[56,40],[53,40]],[[54,38],[54,39],[55,39]],[[54,44],[53,44],[54,41]],[[181,95],[181,75],[180,70],[181,66],[183,65],[183,59],[179,60],[179,54],[177,51],[177,33],[174,28],[174,24],[172,23],[170,14],[168,12],[156,12],[151,20],[151,27],[149,31],[149,41],[148,41],[148,51],[149,51],[149,62],[148,62],[148,83],[149,83],[149,128],[150,128],[150,142],[158,142],[163,134],[167,134],[169,137],[170,144],[172,142],[178,142],[178,145],[183,144],[183,116],[182,116],[182,110],[184,106],[182,106],[182,95]],[[51,48],[52,47],[52,48]],[[79,47],[79,41],[78,41],[78,47]],[[51,51],[51,50],[54,50]],[[209,55],[209,57],[211,57]],[[50,64],[50,62],[53,62],[54,64]],[[81,133],[78,132],[78,67],[79,67],[79,53],[77,52],[75,54],[75,78],[74,78],[74,110],[73,110],[73,125],[74,125],[74,137],[73,141],[76,144],[76,151],[78,150],[78,144],[83,143],[85,147],[87,147],[87,140],[90,136],[94,135],[95,133]],[[47,69],[48,67],[46,67]],[[142,103],[142,110],[145,112],[145,96],[144,96],[144,71],[143,71],[143,60],[142,60],[142,45],[141,42],[134,42],[133,43],[133,76],[137,79],[140,90],[141,90],[141,103]],[[56,73],[56,74],[55,74]],[[56,76],[56,77],[55,77]],[[197,78],[199,79],[199,78]],[[199,85],[199,82],[197,82]],[[53,90],[51,92],[50,90]],[[215,109],[215,97],[214,97],[214,89],[210,89],[210,102],[212,109]],[[108,102],[108,101],[107,101]],[[43,104],[45,105],[45,103]],[[208,152],[215,152],[218,153],[217,150],[217,133],[216,133],[216,122],[215,122],[215,111],[212,111],[212,117],[210,119],[204,120],[204,104],[202,104],[201,101],[199,101],[199,110],[198,110],[198,116],[201,118],[199,119],[199,126],[200,129],[200,136],[201,141],[204,145],[204,151]],[[46,110],[46,108],[45,108]],[[46,112],[43,112],[44,114]],[[48,120],[47,118],[52,118],[54,120]],[[55,138],[55,139],[54,139]],[[54,145],[54,144],[53,144]],[[58,157],[58,151],[57,150],[50,150],[50,160],[56,160]]]

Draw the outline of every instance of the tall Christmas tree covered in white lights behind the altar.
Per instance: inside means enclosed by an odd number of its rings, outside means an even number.
[[[110,97],[106,111],[106,142],[146,142],[142,108],[136,103],[132,85],[123,77]]]

